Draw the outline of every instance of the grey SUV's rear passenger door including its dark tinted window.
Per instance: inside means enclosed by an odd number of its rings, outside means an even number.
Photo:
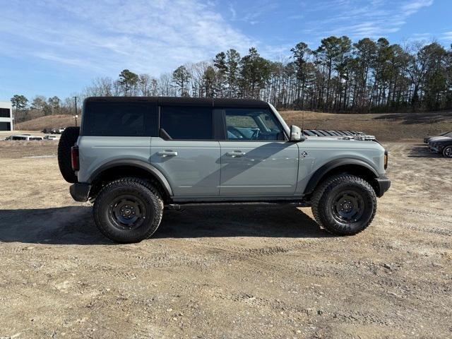
[[[160,107],[160,136],[151,139],[150,163],[165,175],[174,196],[218,196],[220,143],[213,136],[211,104]]]

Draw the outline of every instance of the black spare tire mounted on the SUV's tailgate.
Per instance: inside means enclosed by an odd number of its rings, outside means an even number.
[[[71,184],[78,182],[76,173],[71,165],[71,147],[77,142],[80,134],[80,127],[71,126],[66,127],[58,143],[58,165],[59,172],[64,177],[66,182]]]

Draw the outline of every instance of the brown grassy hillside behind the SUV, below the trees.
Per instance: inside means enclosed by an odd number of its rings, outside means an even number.
[[[287,124],[302,126],[302,112],[282,111]],[[78,121],[80,122],[80,121]],[[73,126],[71,115],[51,115],[17,124],[16,129],[40,131],[49,127]],[[441,131],[452,131],[452,112],[331,114],[304,112],[306,129],[364,131],[383,141],[413,140]]]

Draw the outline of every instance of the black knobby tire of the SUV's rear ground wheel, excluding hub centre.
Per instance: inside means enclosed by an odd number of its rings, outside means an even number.
[[[115,219],[116,215],[112,213],[114,208],[119,208],[115,201],[122,196],[140,201],[141,208],[145,211],[145,218],[137,228],[120,225]],[[122,178],[102,188],[95,199],[93,214],[97,228],[105,237],[124,244],[141,242],[153,235],[159,227],[163,215],[163,201],[160,192],[152,183],[139,178]]]

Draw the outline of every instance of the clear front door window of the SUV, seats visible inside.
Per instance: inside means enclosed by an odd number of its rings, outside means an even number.
[[[229,140],[284,140],[284,132],[268,109],[225,109]]]

